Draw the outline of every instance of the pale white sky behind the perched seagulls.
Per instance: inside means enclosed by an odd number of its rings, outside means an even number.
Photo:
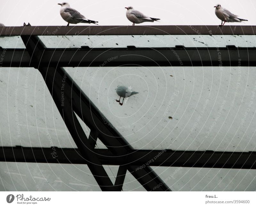
[[[60,5],[57,4],[62,1],[65,0],[1,0],[0,22],[6,26],[22,26],[23,22],[29,22],[32,26],[67,25],[60,17]],[[245,24],[226,25],[256,25],[256,0],[67,0],[67,2],[86,18],[99,21],[99,25],[132,25],[125,16],[125,6],[133,6],[150,17],[161,19],[160,22],[140,25],[219,25],[221,21],[215,16],[215,8],[213,8],[217,3],[239,15],[240,18],[249,20]]]

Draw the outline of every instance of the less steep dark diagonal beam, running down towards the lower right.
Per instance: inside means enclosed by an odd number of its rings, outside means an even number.
[[[62,71],[64,73],[64,71]],[[132,147],[122,137],[122,135],[113,127],[111,122],[100,112],[100,110],[91,102],[73,79],[66,75],[65,83],[72,87],[72,107],[75,113],[92,130],[97,130],[98,138],[113,153],[123,159],[132,150]],[[135,172],[134,166],[128,166],[128,170],[138,179],[140,184],[147,190],[171,191],[165,183],[152,171],[149,166],[141,168]],[[152,186],[161,185],[159,188],[152,189]]]

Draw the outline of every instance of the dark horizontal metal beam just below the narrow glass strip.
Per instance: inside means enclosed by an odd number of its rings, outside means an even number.
[[[3,49],[0,48],[0,53]],[[42,67],[256,66],[256,48],[57,48],[45,49]],[[238,60],[240,60],[238,62]],[[2,67],[34,67],[27,50],[7,49]]]

